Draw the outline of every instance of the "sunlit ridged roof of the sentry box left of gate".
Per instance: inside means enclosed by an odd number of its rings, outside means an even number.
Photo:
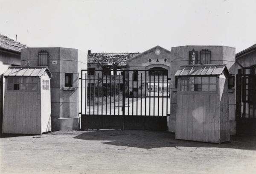
[[[42,76],[44,72],[52,77],[47,66],[15,66],[9,67],[4,76]]]

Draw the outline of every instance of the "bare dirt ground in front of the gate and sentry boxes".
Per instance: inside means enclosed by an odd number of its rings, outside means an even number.
[[[131,130],[2,135],[0,160],[1,174],[255,174],[256,137],[215,144]]]

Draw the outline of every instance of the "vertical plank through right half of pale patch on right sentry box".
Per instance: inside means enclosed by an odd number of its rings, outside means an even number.
[[[204,140],[204,95],[198,95],[198,141]]]

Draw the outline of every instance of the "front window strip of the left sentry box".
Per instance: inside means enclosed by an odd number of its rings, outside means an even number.
[[[7,90],[38,90],[37,77],[8,77]]]

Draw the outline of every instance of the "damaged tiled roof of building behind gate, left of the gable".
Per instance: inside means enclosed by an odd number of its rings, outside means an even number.
[[[90,53],[88,63],[122,63],[127,64],[127,59],[140,53]]]

